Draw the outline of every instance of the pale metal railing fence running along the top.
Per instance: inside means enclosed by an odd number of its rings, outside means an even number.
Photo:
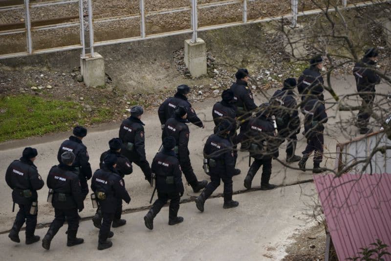
[[[83,0],[55,0],[50,2],[35,2],[30,3],[30,0],[24,0],[24,4],[21,5],[15,5],[15,6],[7,6],[7,7],[0,7],[0,13],[3,11],[9,11],[14,9],[24,9],[24,22],[25,22],[25,28],[24,29],[16,29],[16,30],[5,30],[0,31],[0,37],[4,35],[12,35],[12,34],[19,34],[19,33],[25,33],[26,34],[26,50],[24,52],[17,52],[17,53],[7,53],[7,54],[0,54],[1,58],[11,58],[11,57],[18,57],[18,56],[26,56],[30,54],[39,54],[39,53],[48,53],[48,52],[54,52],[54,51],[62,51],[62,50],[70,50],[70,49],[82,49],[82,57],[86,56],[86,49],[89,48],[89,52],[91,56],[94,56],[94,47],[99,46],[105,46],[105,45],[111,45],[111,44],[118,44],[118,43],[127,43],[127,42],[133,42],[133,41],[140,41],[140,40],[146,40],[146,39],[153,39],[153,38],[160,38],[160,37],[166,37],[166,36],[172,36],[172,35],[179,35],[179,34],[192,34],[192,42],[197,41],[197,33],[206,31],[206,30],[213,30],[213,29],[219,29],[219,28],[225,28],[225,27],[232,27],[232,26],[238,26],[238,25],[244,25],[244,24],[255,24],[255,23],[262,23],[262,22],[268,22],[268,21],[278,21],[282,19],[291,19],[291,26],[295,27],[297,26],[297,20],[300,16],[305,15],[312,15],[312,14],[318,14],[322,13],[325,10],[323,9],[316,9],[316,10],[308,10],[308,11],[302,11],[299,12],[299,0],[290,0],[290,13],[287,14],[280,14],[278,16],[274,17],[268,17],[268,18],[255,18],[255,19],[248,19],[248,13],[249,8],[248,5],[251,4],[251,2],[256,2],[257,0],[223,0],[223,1],[217,1],[217,2],[211,2],[211,3],[203,3],[198,4],[198,0],[189,0],[190,6],[184,6],[184,7],[177,7],[169,10],[158,10],[158,11],[151,11],[147,12],[145,8],[145,2],[144,0],[139,0],[139,14],[131,14],[127,16],[117,16],[117,17],[108,17],[108,18],[100,18],[94,21],[93,19],[93,10],[92,10],[92,0],[88,0],[87,4],[87,14],[88,17],[88,40],[89,40],[89,47],[86,46],[85,41],[85,31],[86,26],[84,23],[84,6],[83,6]],[[353,3],[349,4],[348,0],[339,0],[341,3],[341,6],[338,7],[338,9],[347,9],[347,8],[354,8],[354,7],[362,7],[362,6],[369,6],[372,4],[377,3],[385,3],[385,2],[391,2],[391,0],[376,0],[376,1],[367,1],[367,2],[361,2],[361,3]],[[70,3],[78,3],[79,4],[79,21],[78,22],[67,22],[67,23],[61,23],[61,24],[49,24],[49,25],[43,25],[43,26],[32,26],[31,25],[31,8],[36,8],[40,6],[52,6],[52,5],[62,5],[62,4],[70,4]],[[241,5],[241,21],[232,22],[232,23],[225,23],[225,24],[213,24],[213,25],[205,25],[198,27],[198,11],[205,9],[205,8],[213,8],[213,7],[219,7],[219,6],[229,6],[229,5]],[[328,8],[328,12],[335,11],[336,8]],[[146,30],[146,18],[157,16],[157,15],[164,15],[164,14],[173,14],[178,12],[187,12],[190,11],[190,18],[191,23],[189,24],[189,28],[180,29],[180,30],[172,30],[168,32],[163,33],[152,33],[148,34]],[[100,24],[100,23],[111,23],[115,21],[126,21],[131,19],[139,19],[140,23],[140,35],[129,37],[129,38],[119,38],[119,39],[110,39],[105,41],[95,41],[94,40],[94,24]],[[34,39],[32,37],[32,32],[40,31],[40,30],[49,30],[49,29],[57,29],[57,28],[65,28],[65,27],[71,27],[71,26],[79,26],[80,31],[80,44],[77,45],[69,45],[69,46],[63,46],[63,47],[53,47],[53,48],[46,48],[46,49],[35,49],[33,48],[33,42]]]

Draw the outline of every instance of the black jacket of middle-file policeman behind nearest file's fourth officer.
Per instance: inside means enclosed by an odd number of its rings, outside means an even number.
[[[164,125],[162,140],[168,136],[175,138],[176,145],[178,146],[179,160],[181,162],[189,161],[189,136],[190,130],[187,126],[188,121],[180,117],[168,119]]]

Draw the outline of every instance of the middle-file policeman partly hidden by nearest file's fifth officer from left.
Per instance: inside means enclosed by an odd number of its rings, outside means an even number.
[[[236,161],[238,159],[238,150],[237,150],[237,143],[238,143],[238,135],[236,133],[236,113],[237,108],[235,106],[235,98],[234,93],[230,90],[224,90],[221,94],[221,101],[218,101],[215,103],[212,109],[212,117],[213,121],[215,122],[215,129],[214,133],[216,134],[218,132],[218,125],[222,120],[228,120],[232,124],[232,130],[230,132],[230,139],[231,142],[234,144],[234,155],[235,155],[235,165]],[[240,174],[240,169],[235,169],[235,175]]]

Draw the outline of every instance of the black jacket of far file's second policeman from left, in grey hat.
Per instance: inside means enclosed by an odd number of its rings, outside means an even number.
[[[144,125],[140,119],[130,116],[122,121],[119,128],[119,139],[122,141],[121,154],[130,161],[146,161]],[[131,150],[128,142],[133,143]]]

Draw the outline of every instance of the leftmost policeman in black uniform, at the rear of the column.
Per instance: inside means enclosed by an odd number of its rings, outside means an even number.
[[[22,158],[13,161],[5,173],[5,181],[12,189],[12,200],[14,204],[19,205],[18,214],[16,214],[14,225],[8,237],[12,241],[20,243],[19,231],[23,223],[26,222],[27,245],[40,240],[39,236],[34,235],[37,225],[37,211],[31,212],[33,202],[38,204],[37,190],[41,190],[44,185],[37,166],[34,165],[37,155],[38,152],[35,148],[24,148]],[[36,207],[38,208],[38,205]]]

